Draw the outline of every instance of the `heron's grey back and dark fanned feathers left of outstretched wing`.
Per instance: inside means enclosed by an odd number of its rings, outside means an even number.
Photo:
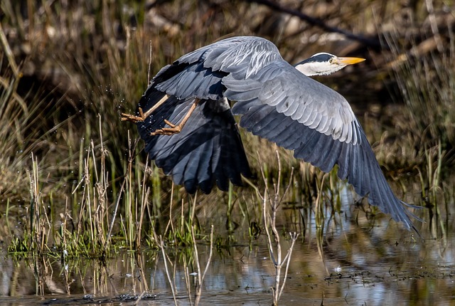
[[[139,101],[146,112],[161,98],[167,100],[137,127],[145,150],[176,184],[194,193],[208,193],[216,184],[227,190],[229,181],[241,185],[240,175],[252,177],[240,134],[223,96],[223,78],[243,78],[281,58],[277,47],[264,38],[241,36],[218,41],[178,58],[161,68]],[[183,130],[172,136],[151,135],[164,120],[181,121],[191,104],[200,99]]]

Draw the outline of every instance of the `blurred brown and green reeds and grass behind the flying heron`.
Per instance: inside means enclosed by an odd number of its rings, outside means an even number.
[[[153,164],[144,173],[143,143],[120,113],[134,112],[150,78],[184,53],[226,36],[257,35],[277,44],[290,63],[321,51],[367,58],[318,80],[353,105],[387,176],[420,178],[411,200],[421,204],[425,190],[442,186],[454,164],[453,6],[432,0],[3,0],[1,202],[26,218],[33,201],[44,212],[54,202],[60,211],[65,205],[77,211],[88,193],[95,210],[105,203],[102,213],[112,213],[117,200],[122,209],[124,201],[146,201],[155,204],[151,215],[163,213],[171,179]],[[250,134],[242,138],[252,169],[259,173],[265,165],[266,176],[273,174],[278,148]],[[308,174],[317,177],[317,170],[279,152],[284,177],[294,167],[299,190],[314,185]],[[120,200],[125,176],[132,193]],[[173,196],[185,193],[177,188]],[[214,191],[198,201],[220,209],[230,196]],[[68,220],[63,212],[59,218]]]

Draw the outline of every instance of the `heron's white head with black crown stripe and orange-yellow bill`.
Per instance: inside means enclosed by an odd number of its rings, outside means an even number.
[[[316,53],[314,56],[302,60],[294,67],[304,75],[329,75],[347,65],[363,62],[365,58],[341,58],[330,53]]]

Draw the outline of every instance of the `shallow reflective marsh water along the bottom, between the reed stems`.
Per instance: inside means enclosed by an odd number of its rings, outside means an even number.
[[[455,248],[453,218],[444,223],[444,236],[434,234],[434,223],[419,226],[422,240],[387,216],[371,222],[356,209],[346,209],[316,227],[309,210],[305,236],[300,236],[280,305],[452,305],[455,303]],[[280,221],[295,216],[282,210]],[[358,213],[359,216],[355,217]],[[427,211],[423,218],[429,218]],[[445,217],[445,216],[444,216]],[[441,216],[441,219],[442,216]],[[220,228],[224,224],[215,224]],[[264,233],[249,241],[237,229],[231,246],[214,250],[203,283],[200,305],[271,305],[274,265]],[[315,229],[317,228],[317,229]],[[235,235],[235,234],[234,234]],[[243,236],[242,236],[243,235]],[[434,238],[434,236],[438,236]],[[282,236],[283,253],[289,240]],[[205,267],[209,249],[199,245]],[[175,267],[179,305],[189,305],[183,255],[168,253]],[[105,264],[100,260],[48,258],[42,283],[33,258],[0,261],[1,305],[173,305],[171,287],[160,252],[119,253]],[[193,263],[194,264],[194,263]],[[189,273],[193,272],[189,265]],[[172,268],[171,268],[172,269]],[[189,277],[191,299],[196,278]],[[38,288],[43,296],[37,296]]]

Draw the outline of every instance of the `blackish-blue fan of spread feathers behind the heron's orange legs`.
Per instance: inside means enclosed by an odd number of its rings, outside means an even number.
[[[148,110],[163,96],[159,90],[149,90],[139,106]],[[242,185],[240,175],[252,177],[252,174],[237,125],[225,101],[200,101],[186,123],[193,128],[183,128],[172,136],[151,135],[165,126],[164,119],[179,122],[193,102],[194,98],[168,97],[144,122],[137,123],[146,143],[145,151],[157,167],[171,175],[176,184],[185,186],[189,193],[196,192],[199,186],[208,194],[214,184],[226,191],[229,181]]]

